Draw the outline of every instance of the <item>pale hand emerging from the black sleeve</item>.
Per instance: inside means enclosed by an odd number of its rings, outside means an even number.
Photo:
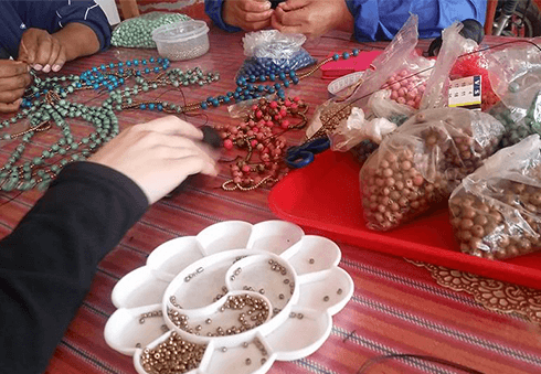
[[[88,161],[130,178],[152,204],[188,175],[218,174],[214,152],[202,139],[201,130],[168,116],[121,131]]]

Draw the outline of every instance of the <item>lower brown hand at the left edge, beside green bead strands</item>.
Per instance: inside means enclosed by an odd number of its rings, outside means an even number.
[[[29,65],[12,60],[0,60],[0,113],[17,111],[24,89],[32,82]]]

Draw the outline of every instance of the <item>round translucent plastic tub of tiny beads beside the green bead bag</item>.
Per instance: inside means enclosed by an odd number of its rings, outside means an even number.
[[[189,20],[165,24],[152,31],[160,56],[170,61],[199,57],[209,51],[209,26],[204,21]]]

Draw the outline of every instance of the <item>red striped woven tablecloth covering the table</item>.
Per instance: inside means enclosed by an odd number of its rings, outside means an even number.
[[[497,42],[488,38],[489,43]],[[210,32],[210,52],[173,67],[195,67],[220,72],[211,85],[179,90],[158,90],[146,97],[188,103],[216,96],[235,87],[234,75],[244,55],[242,34]],[[381,49],[384,43],[359,44],[342,33],[308,41],[305,47],[317,58],[330,52]],[[427,47],[422,41],[420,46]],[[112,49],[72,62],[64,73],[81,73],[102,63],[156,55],[152,50]],[[314,114],[328,98],[328,82],[320,72],[288,90],[305,99]],[[105,95],[85,92],[82,99],[99,105]],[[132,110],[118,115],[121,128],[160,116],[156,111]],[[212,108],[189,117],[205,122],[235,121],[227,108]],[[74,127],[75,133],[88,130]],[[289,137],[294,140],[295,135]],[[298,138],[297,138],[298,139]],[[34,148],[43,148],[46,135],[36,137]],[[14,145],[4,145],[6,158]],[[195,235],[218,222],[243,220],[258,223],[275,220],[267,205],[269,188],[250,192],[224,191],[230,179],[227,164],[216,178],[200,177],[180,194],[151,206],[99,264],[88,296],[52,357],[47,373],[135,373],[132,359],[112,350],[103,331],[115,311],[110,293],[116,282],[145,265],[158,245],[174,237]],[[39,191],[0,194],[0,235],[7,235],[39,199]],[[409,261],[401,257],[339,243],[340,267],[352,277],[351,301],[333,317],[329,339],[314,354],[294,362],[276,362],[269,373],[357,373],[370,359],[393,353],[429,355],[466,365],[484,373],[541,372],[541,292],[443,267]],[[62,306],[59,306],[60,308]],[[491,310],[492,309],[492,310]],[[505,311],[505,312],[503,312]],[[456,370],[416,359],[388,360],[367,373],[455,373]]]

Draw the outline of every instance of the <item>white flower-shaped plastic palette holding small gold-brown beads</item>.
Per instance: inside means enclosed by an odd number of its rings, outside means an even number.
[[[197,367],[179,373],[266,373],[329,336],[354,287],[340,256],[333,242],[284,221],[214,224],[163,243],[118,281],[105,340],[140,374],[159,373],[171,359],[158,350],[179,340],[200,352]]]

